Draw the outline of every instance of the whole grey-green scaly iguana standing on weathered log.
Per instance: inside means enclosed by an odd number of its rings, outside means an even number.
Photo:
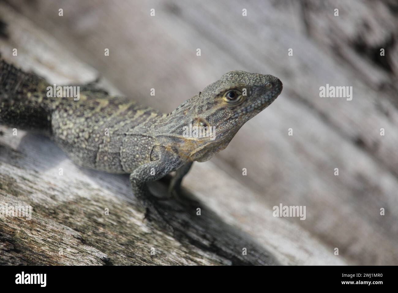
[[[80,86],[80,99],[47,97],[45,80],[0,62],[0,124],[50,136],[74,162],[109,173],[129,173],[133,193],[162,219],[146,183],[177,171],[178,190],[193,161],[224,149],[243,124],[271,104],[282,83],[272,75],[230,71],[169,114]],[[244,92],[246,91],[246,95]],[[216,138],[183,136],[183,127],[215,126]]]

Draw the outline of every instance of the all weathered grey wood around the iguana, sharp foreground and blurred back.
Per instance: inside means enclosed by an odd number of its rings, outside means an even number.
[[[200,216],[162,203],[174,235],[142,221],[126,176],[79,168],[51,141],[2,127],[0,204],[33,211],[0,218],[0,263],[398,263],[394,1],[7,3],[2,57],[50,82],[99,73],[111,92],[165,112],[233,69],[275,75],[284,89],[227,149],[193,165],[183,186]],[[327,83],[352,86],[353,100],[320,98]],[[280,203],[306,206],[306,220],[273,217]]]

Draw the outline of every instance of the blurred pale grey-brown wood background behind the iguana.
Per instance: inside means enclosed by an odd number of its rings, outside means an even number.
[[[283,264],[398,264],[396,1],[6,0],[0,20],[8,61],[57,83],[99,75],[164,112],[231,70],[279,77],[279,98],[183,185]],[[326,84],[352,100],[321,98]],[[280,203],[306,220],[274,218]]]

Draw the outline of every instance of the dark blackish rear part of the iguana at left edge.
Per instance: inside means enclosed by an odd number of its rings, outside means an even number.
[[[0,61],[0,124],[26,130],[50,131],[51,104],[47,83]]]

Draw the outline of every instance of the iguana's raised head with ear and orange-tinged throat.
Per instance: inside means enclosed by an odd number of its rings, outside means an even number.
[[[207,161],[281,91],[281,81],[272,75],[230,71],[168,116],[171,144],[178,144],[176,151],[187,161]]]

